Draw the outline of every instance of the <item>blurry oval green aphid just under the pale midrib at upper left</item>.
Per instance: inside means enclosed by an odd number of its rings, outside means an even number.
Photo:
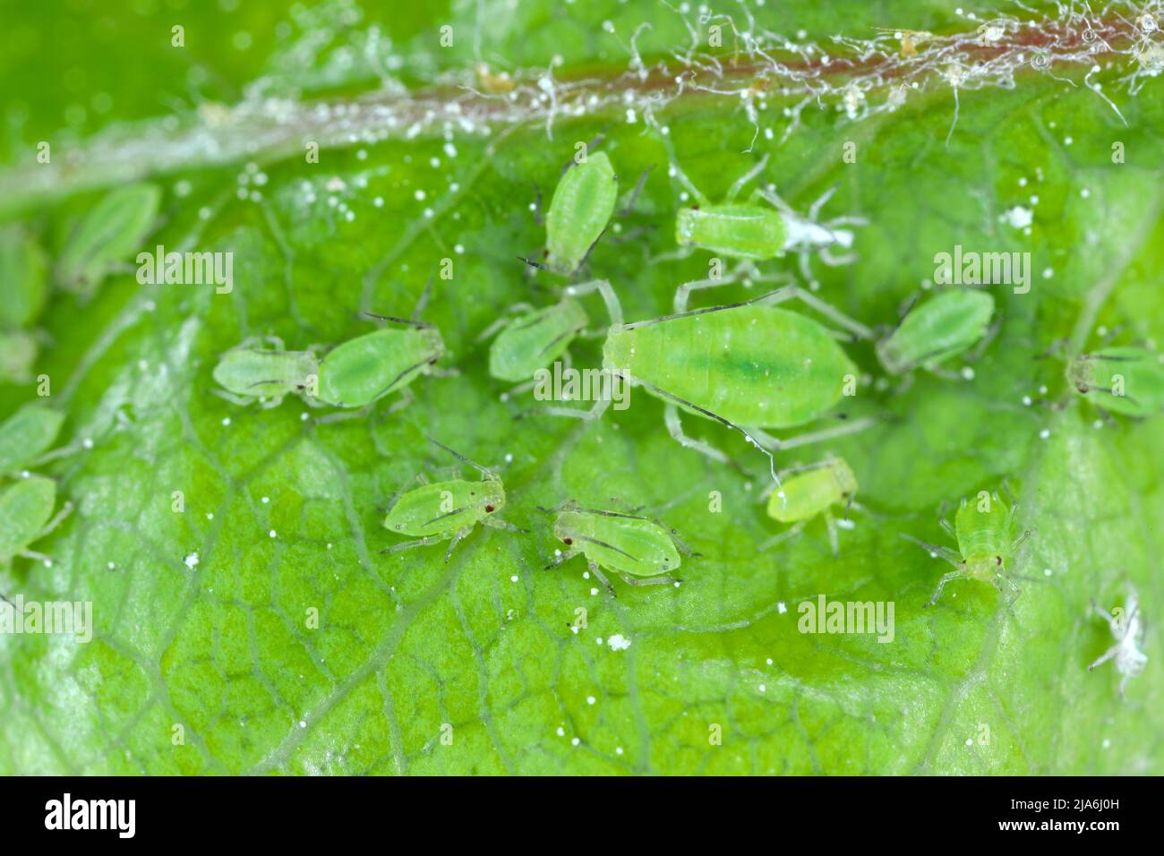
[[[109,192],[81,218],[57,260],[62,288],[91,296],[111,270],[141,248],[157,219],[162,191],[130,184]]]

